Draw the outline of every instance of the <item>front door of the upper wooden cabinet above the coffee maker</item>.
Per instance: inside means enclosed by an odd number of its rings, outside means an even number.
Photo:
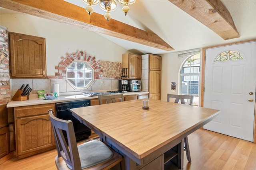
[[[141,55],[129,55],[129,79],[141,79]]]

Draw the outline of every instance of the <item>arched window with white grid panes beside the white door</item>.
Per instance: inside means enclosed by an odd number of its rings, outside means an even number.
[[[194,96],[193,105],[198,106],[200,83],[200,52],[187,56],[180,67],[180,94]]]

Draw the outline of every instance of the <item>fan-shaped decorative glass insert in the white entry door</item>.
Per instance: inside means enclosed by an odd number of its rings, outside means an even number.
[[[220,53],[216,59],[214,60],[214,62],[218,62],[218,61],[229,61],[229,60],[243,60],[244,57],[242,57],[242,55],[238,52],[238,51],[224,51],[222,53]]]

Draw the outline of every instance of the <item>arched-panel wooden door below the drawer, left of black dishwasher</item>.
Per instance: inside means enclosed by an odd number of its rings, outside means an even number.
[[[48,114],[17,118],[18,156],[36,154],[54,147],[54,134]]]

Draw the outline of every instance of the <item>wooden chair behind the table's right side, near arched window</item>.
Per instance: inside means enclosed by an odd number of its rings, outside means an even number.
[[[184,99],[188,99],[189,105],[192,106],[194,96],[167,94],[167,102],[170,102],[170,98],[175,98],[174,103],[178,103],[180,100],[181,104],[185,104]],[[184,138],[184,151],[186,151],[186,156],[187,156],[188,162],[191,162],[190,149],[189,149],[189,145],[188,145],[188,137],[187,136]]]

